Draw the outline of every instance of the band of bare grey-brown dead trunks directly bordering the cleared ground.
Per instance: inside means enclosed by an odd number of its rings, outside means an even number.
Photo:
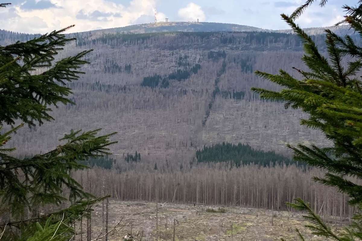
[[[293,211],[286,206],[296,197],[309,202],[312,209],[338,219],[352,217],[355,208],[347,205],[347,195],[312,181],[321,169],[305,170],[295,165],[240,168],[201,166],[186,171],[138,171],[119,173],[93,168],[77,172],[76,180],[96,195],[109,187],[111,198],[119,201],[189,203],[197,205],[239,206],[276,211]]]

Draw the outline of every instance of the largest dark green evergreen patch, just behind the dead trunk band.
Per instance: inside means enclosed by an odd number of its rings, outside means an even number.
[[[233,145],[229,142],[223,142],[210,147],[204,146],[203,149],[196,151],[198,163],[208,162],[231,162],[236,167],[243,164],[258,163],[263,166],[275,164],[290,164],[290,159],[285,156],[275,154],[274,151],[257,151],[249,145],[239,143]]]

